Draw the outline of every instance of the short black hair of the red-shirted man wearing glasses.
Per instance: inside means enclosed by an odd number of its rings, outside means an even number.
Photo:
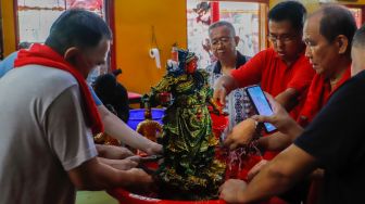
[[[306,17],[306,10],[304,5],[298,1],[284,1],[276,4],[268,12],[268,20],[274,22],[290,22],[291,26],[302,33],[304,21]]]

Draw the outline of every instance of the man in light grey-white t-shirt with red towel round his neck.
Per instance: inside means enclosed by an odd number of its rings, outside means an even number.
[[[75,187],[152,182],[141,169],[118,170],[96,157],[90,129],[102,125],[84,77],[105,63],[111,39],[98,15],[65,11],[45,46],[21,51],[17,68],[1,78],[0,203],[74,203]]]

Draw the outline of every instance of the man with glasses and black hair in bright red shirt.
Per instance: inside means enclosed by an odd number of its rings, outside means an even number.
[[[295,1],[278,3],[268,13],[268,38],[273,48],[259,52],[230,76],[221,77],[214,98],[225,103],[226,95],[241,87],[260,84],[297,117],[314,71],[304,56],[302,41],[305,8]]]

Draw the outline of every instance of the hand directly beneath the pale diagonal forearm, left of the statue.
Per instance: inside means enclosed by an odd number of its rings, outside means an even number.
[[[111,160],[123,160],[135,155],[128,149],[115,145],[97,144],[97,150],[100,157]]]

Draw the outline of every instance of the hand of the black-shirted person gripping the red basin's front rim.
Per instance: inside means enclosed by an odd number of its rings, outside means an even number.
[[[244,191],[247,183],[243,180],[229,179],[219,188],[219,199],[227,203],[241,203],[240,194]]]

